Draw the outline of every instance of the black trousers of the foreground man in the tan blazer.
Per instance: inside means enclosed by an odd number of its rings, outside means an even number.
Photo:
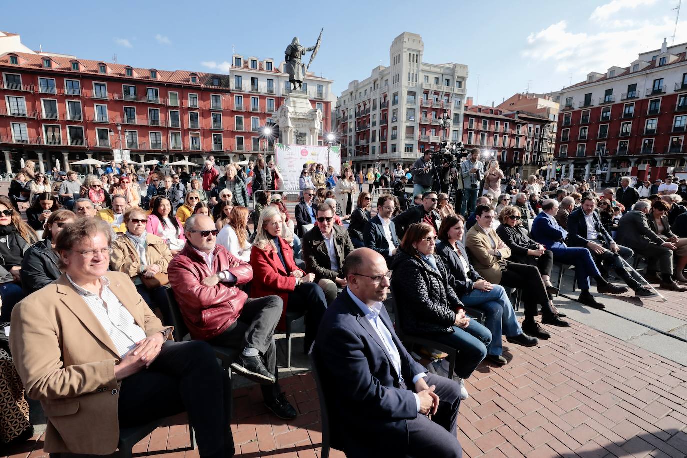
[[[205,342],[162,345],[157,359],[122,381],[120,428],[188,412],[201,457],[234,456],[231,381]]]

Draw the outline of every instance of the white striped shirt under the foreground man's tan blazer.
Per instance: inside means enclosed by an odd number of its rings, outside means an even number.
[[[67,279],[86,305],[89,306],[91,312],[95,314],[95,318],[100,321],[105,332],[115,344],[120,358],[124,358],[124,355],[131,352],[136,347],[137,342],[146,339],[146,331],[136,324],[131,313],[122,306],[120,299],[117,299],[117,296],[110,289],[109,278],[100,277],[100,284],[102,284],[100,296],[78,286],[69,277],[69,274],[67,274]]]

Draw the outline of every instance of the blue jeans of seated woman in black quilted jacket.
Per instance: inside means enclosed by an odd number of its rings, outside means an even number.
[[[455,375],[469,378],[486,358],[486,346],[491,343],[491,332],[473,320],[465,329],[453,326],[453,332],[433,332],[427,338],[457,349],[460,353],[455,362]]]

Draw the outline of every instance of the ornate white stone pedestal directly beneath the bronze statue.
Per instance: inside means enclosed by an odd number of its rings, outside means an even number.
[[[274,115],[286,145],[317,145],[322,130],[322,113],[315,110],[306,93],[293,91]]]

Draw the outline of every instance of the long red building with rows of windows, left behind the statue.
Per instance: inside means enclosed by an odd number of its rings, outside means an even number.
[[[261,137],[289,92],[273,60],[233,56],[230,74],[141,69],[75,56],[8,51],[0,36],[0,150],[5,170],[33,159],[41,170],[60,161],[113,158],[246,159],[271,150]],[[21,42],[19,42],[21,43]],[[10,46],[16,46],[16,42]],[[25,51],[25,49],[23,49]],[[330,131],[331,80],[308,75],[304,89]]]

